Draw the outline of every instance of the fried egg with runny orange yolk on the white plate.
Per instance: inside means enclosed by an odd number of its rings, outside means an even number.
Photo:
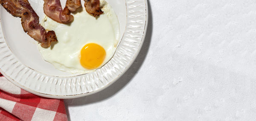
[[[119,22],[111,6],[101,0],[103,14],[93,17],[84,7],[72,13],[74,21],[57,23],[45,17],[41,23],[55,31],[58,42],[50,48],[38,49],[43,59],[58,70],[70,73],[88,73],[107,63],[116,51],[119,41]]]

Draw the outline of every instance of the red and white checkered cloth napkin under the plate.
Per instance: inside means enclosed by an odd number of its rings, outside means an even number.
[[[36,96],[0,73],[0,121],[67,121],[63,99]]]

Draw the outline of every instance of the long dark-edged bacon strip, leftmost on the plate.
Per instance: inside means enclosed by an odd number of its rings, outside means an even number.
[[[46,32],[39,24],[39,17],[28,0],[0,0],[1,5],[13,16],[21,18],[23,30],[33,39],[48,48],[51,42],[57,41],[54,31]]]

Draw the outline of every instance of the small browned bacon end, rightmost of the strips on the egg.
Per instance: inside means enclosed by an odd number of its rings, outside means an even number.
[[[94,17],[103,14],[99,5],[99,0],[84,0],[84,2],[84,7],[89,14],[92,14]]]

